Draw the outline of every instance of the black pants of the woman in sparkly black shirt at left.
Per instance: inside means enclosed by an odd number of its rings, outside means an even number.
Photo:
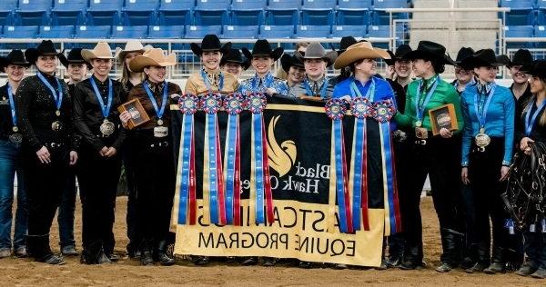
[[[24,145],[24,169],[28,198],[27,249],[35,260],[52,254],[49,231],[68,179],[70,161],[66,144],[48,146],[51,163],[40,163],[35,150]]]

